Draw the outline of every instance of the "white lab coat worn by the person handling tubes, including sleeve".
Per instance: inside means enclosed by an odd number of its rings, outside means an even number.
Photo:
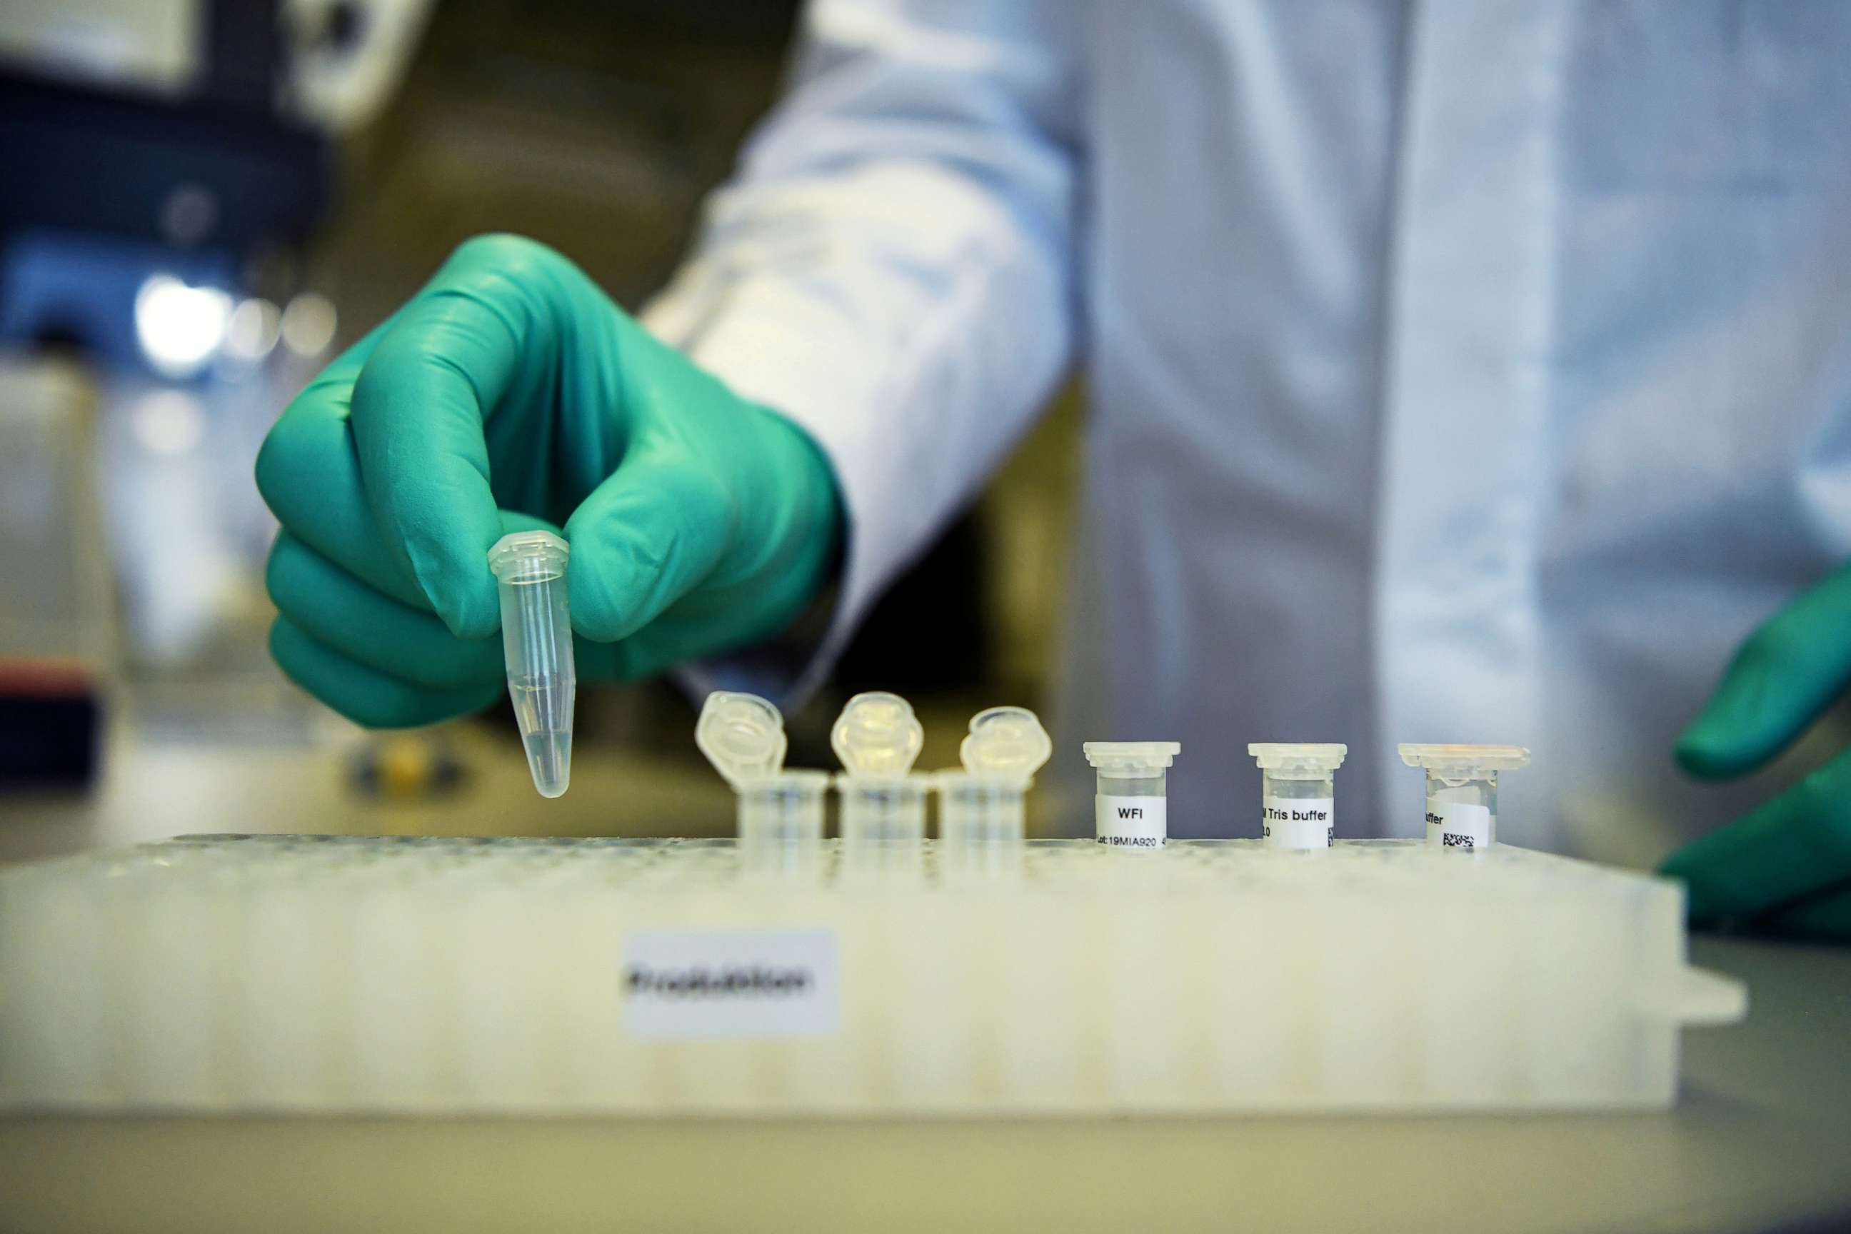
[[[1257,834],[1246,742],[1348,742],[1418,834],[1396,742],[1516,742],[1499,838],[1649,860],[1851,551],[1851,4],[818,0],[646,320],[833,459],[818,664],[1079,359],[1057,766]]]

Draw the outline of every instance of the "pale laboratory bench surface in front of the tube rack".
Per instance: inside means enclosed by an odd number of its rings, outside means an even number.
[[[31,1116],[0,1230],[1827,1230],[1851,949],[1697,938],[1747,1021],[1660,1114],[1007,1121]]]

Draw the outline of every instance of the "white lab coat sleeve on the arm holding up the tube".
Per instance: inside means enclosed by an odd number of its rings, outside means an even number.
[[[685,683],[801,697],[1031,424],[1074,346],[1072,0],[820,0],[794,83],[644,324],[835,466],[820,646]]]

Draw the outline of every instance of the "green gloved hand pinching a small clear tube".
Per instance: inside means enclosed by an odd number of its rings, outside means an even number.
[[[840,498],[814,442],[657,342],[533,241],[468,241],[270,429],[276,662],[366,725],[503,688],[489,546],[563,525],[581,679],[779,633],[818,594]]]

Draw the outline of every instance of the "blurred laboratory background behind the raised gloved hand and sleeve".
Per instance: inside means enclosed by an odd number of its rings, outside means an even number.
[[[796,7],[0,4],[0,860],[731,829],[670,683],[581,692],[559,801],[505,710],[368,734],[292,688],[252,461],[470,235],[537,237],[639,307],[776,98]],[[1070,392],[790,712],[792,766],[835,764],[853,690],[914,701],[922,768],[955,764],[979,707],[1048,703],[1079,414]]]

